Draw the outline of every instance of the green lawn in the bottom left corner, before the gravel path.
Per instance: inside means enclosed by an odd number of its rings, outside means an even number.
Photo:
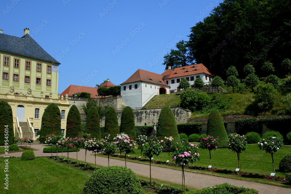
[[[0,168],[4,169],[4,165],[1,162]],[[90,176],[89,172],[49,158],[9,160],[9,192],[15,194],[81,193],[86,179]]]

